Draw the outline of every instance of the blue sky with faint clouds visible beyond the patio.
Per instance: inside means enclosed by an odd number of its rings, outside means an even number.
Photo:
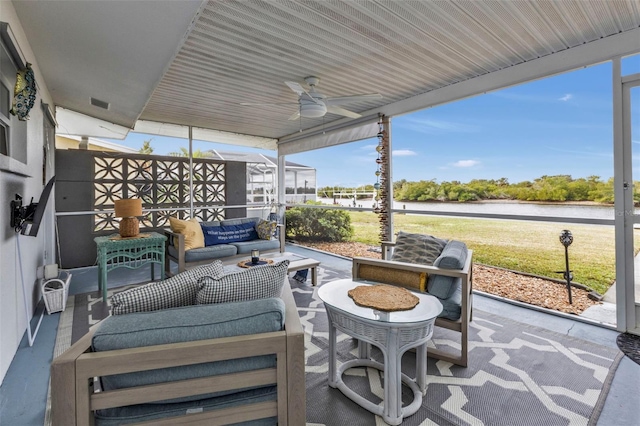
[[[623,61],[623,75],[638,72],[640,56]],[[635,113],[640,88],[633,96]],[[393,179],[468,182],[506,177],[516,183],[556,174],[608,179],[613,176],[612,114],[607,62],[394,117]],[[634,130],[634,142],[640,143],[640,128]],[[113,142],[137,149],[149,138],[155,154],[188,146],[186,140],[134,133]],[[374,138],[287,159],[316,168],[318,187],[360,186],[375,182],[376,145]],[[198,148],[275,155],[194,141]]]

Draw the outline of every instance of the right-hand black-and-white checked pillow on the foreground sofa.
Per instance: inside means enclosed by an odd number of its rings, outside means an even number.
[[[223,276],[203,276],[196,302],[204,305],[279,297],[288,269],[289,261],[283,260]]]

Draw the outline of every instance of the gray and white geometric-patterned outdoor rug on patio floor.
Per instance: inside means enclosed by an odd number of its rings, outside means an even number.
[[[344,272],[319,268],[320,285]],[[307,424],[382,425],[384,422],[327,384],[328,327],[317,288],[290,280],[305,328]],[[124,288],[116,289],[122,291]],[[111,293],[111,292],[110,292]],[[68,348],[89,327],[108,315],[97,292],[70,296],[62,313],[55,354]],[[436,345],[457,346],[436,329]],[[456,343],[454,343],[456,342]],[[340,362],[355,358],[357,345],[339,333]],[[381,360],[381,353],[373,355]],[[428,389],[418,412],[403,425],[594,425],[622,354],[591,342],[564,336],[474,310],[469,367],[428,360]],[[402,370],[415,373],[415,354],[403,357]],[[344,381],[361,395],[382,401],[383,374],[351,369]],[[403,387],[403,401],[412,399]],[[49,426],[49,416],[45,425]]]

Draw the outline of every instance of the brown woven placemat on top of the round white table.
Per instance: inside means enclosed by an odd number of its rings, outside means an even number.
[[[361,285],[347,293],[356,305],[379,311],[408,311],[420,303],[409,290],[392,285]]]

